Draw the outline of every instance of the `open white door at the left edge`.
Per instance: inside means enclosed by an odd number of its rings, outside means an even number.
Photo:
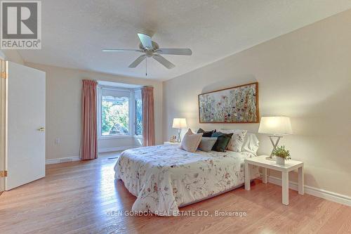
[[[45,72],[8,62],[5,189],[45,176]]]

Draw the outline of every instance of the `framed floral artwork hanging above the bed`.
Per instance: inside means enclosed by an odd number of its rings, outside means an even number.
[[[258,82],[199,94],[200,123],[258,123]]]

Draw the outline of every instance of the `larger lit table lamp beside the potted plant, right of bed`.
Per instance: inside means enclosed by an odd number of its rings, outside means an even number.
[[[270,137],[273,150],[270,157],[267,157],[267,159],[272,160],[273,151],[277,148],[280,138],[282,138],[284,135],[293,134],[290,118],[284,116],[262,117],[260,127],[258,128],[258,133],[268,134]],[[273,138],[277,138],[275,142],[273,141]]]

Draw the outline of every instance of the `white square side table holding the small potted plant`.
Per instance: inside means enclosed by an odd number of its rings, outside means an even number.
[[[298,194],[303,195],[303,162],[286,160],[285,165],[279,165],[275,161],[266,160],[266,155],[251,157],[245,160],[245,189],[250,190],[250,167],[249,164],[263,167],[263,183],[267,183],[267,169],[282,172],[282,203],[289,204],[289,171],[298,169]]]

